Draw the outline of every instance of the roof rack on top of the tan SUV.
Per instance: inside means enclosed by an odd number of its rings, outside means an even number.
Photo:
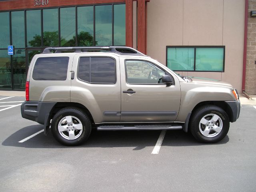
[[[132,55],[144,55],[134,48],[125,46],[102,46],[102,47],[48,47],[45,48],[43,53],[60,53],[62,51],[74,50],[74,52],[87,52],[87,51],[109,51],[118,54],[132,54]]]

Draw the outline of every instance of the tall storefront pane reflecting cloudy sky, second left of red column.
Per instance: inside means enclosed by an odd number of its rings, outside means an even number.
[[[112,5],[95,6],[95,45],[112,45]]]

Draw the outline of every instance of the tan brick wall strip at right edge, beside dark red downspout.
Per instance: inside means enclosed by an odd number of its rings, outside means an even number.
[[[256,17],[250,16],[252,10],[256,11],[256,0],[248,0],[248,3],[245,90],[256,95]]]

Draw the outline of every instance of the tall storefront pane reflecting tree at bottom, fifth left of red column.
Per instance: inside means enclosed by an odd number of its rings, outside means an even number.
[[[44,47],[59,46],[58,9],[43,10]]]

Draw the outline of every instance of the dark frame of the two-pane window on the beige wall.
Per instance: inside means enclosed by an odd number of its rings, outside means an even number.
[[[224,45],[220,46],[210,46],[210,45],[203,45],[203,46],[166,46],[166,66],[167,66],[167,53],[168,48],[194,48],[194,70],[173,70],[173,71],[181,71],[181,72],[225,72],[225,47]],[[196,48],[223,48],[223,70],[220,71],[209,71],[209,70],[196,70]],[[172,70],[172,69],[171,69]]]

